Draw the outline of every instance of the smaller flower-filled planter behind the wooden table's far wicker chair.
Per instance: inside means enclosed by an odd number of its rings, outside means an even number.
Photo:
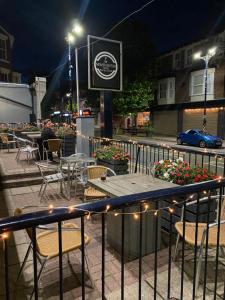
[[[97,149],[93,156],[97,159],[98,165],[112,169],[117,175],[128,174],[130,155],[122,148],[104,146]]]

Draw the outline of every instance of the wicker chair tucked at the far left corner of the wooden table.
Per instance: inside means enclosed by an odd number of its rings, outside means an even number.
[[[101,178],[102,174],[106,174],[107,176],[116,175],[116,173],[110,168],[104,166],[89,166],[81,174],[81,182],[85,183],[85,181],[89,179]],[[93,199],[99,199],[105,197],[107,197],[107,194],[93,188],[92,186],[88,186],[84,189],[84,198],[83,198],[84,201],[86,201],[87,199],[93,200]]]

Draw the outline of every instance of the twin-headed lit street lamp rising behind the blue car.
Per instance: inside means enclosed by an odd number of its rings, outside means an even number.
[[[208,66],[209,66],[209,60],[216,54],[216,47],[212,47],[208,50],[206,55],[202,55],[201,52],[197,52],[194,54],[194,59],[202,59],[205,62],[205,74],[204,74],[204,113],[203,113],[203,124],[202,124],[202,130],[203,132],[206,131],[206,101],[207,101],[207,84],[208,84]]]

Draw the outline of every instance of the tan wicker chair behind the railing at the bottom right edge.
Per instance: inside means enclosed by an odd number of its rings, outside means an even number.
[[[199,202],[208,199],[208,197],[199,199]],[[211,196],[211,199],[218,199],[219,196]],[[186,206],[196,204],[197,200],[188,202]],[[220,217],[220,240],[219,240],[219,247],[221,248],[221,253],[224,254],[223,247],[225,247],[225,201],[224,196],[222,198],[222,205],[221,205],[221,217]],[[181,221],[175,223],[175,228],[177,230],[177,241],[174,251],[174,260],[176,260],[177,256],[177,249],[179,239],[184,237],[183,234],[183,217],[184,217],[184,208],[182,209],[181,214]],[[192,222],[185,222],[185,242],[192,247],[195,247],[195,232],[196,232],[196,223]],[[208,247],[213,248],[217,247],[217,232],[218,232],[218,220],[215,223],[210,223],[208,229]],[[197,263],[197,271],[196,271],[196,278],[195,278],[195,286],[196,286],[196,293],[199,287],[199,279],[201,273],[201,263],[202,263],[202,256],[203,256],[203,248],[206,244],[206,234],[207,234],[207,224],[206,223],[198,223],[198,235],[197,235],[197,247],[199,247],[198,251],[198,263]]]

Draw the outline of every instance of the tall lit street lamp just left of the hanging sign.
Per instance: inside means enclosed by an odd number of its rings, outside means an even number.
[[[83,31],[84,30],[81,24],[75,21],[72,27],[72,33],[68,34],[73,37],[73,43],[76,42],[76,39],[78,37],[82,36]],[[76,67],[77,111],[79,116],[80,115],[80,93],[79,93],[79,72],[78,72],[78,48],[76,45],[75,45],[75,67]]]

